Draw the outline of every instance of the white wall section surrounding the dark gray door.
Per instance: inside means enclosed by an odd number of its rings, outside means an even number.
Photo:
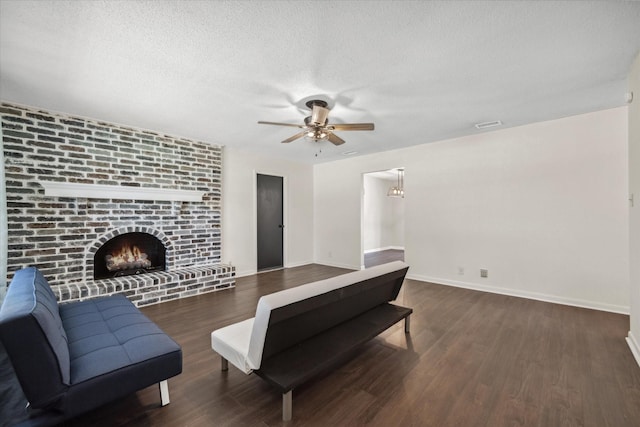
[[[312,166],[224,147],[222,262],[244,276],[257,271],[256,174],[284,177],[284,265],[313,262]]]

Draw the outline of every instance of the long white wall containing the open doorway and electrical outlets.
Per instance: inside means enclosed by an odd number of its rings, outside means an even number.
[[[626,107],[316,165],[316,262],[359,267],[361,173],[399,164],[410,277],[629,310]]]

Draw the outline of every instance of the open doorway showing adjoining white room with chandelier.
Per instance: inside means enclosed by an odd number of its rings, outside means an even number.
[[[365,268],[405,259],[404,192],[400,195],[395,191],[399,176],[404,181],[404,168],[363,174],[362,265]]]

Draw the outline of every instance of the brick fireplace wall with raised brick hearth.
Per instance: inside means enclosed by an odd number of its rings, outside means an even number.
[[[234,286],[220,264],[222,147],[2,103],[8,276],[37,266],[61,301],[124,292],[147,305]],[[202,201],[45,195],[77,183],[204,192]],[[135,194],[135,192],[134,192]],[[162,236],[167,271],[94,281],[93,254],[108,238]]]

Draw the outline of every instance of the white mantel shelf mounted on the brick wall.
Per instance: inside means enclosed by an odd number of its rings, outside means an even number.
[[[167,188],[127,187],[122,185],[78,184],[74,182],[41,181],[45,196],[87,199],[135,199],[180,202],[202,201],[204,191]]]

